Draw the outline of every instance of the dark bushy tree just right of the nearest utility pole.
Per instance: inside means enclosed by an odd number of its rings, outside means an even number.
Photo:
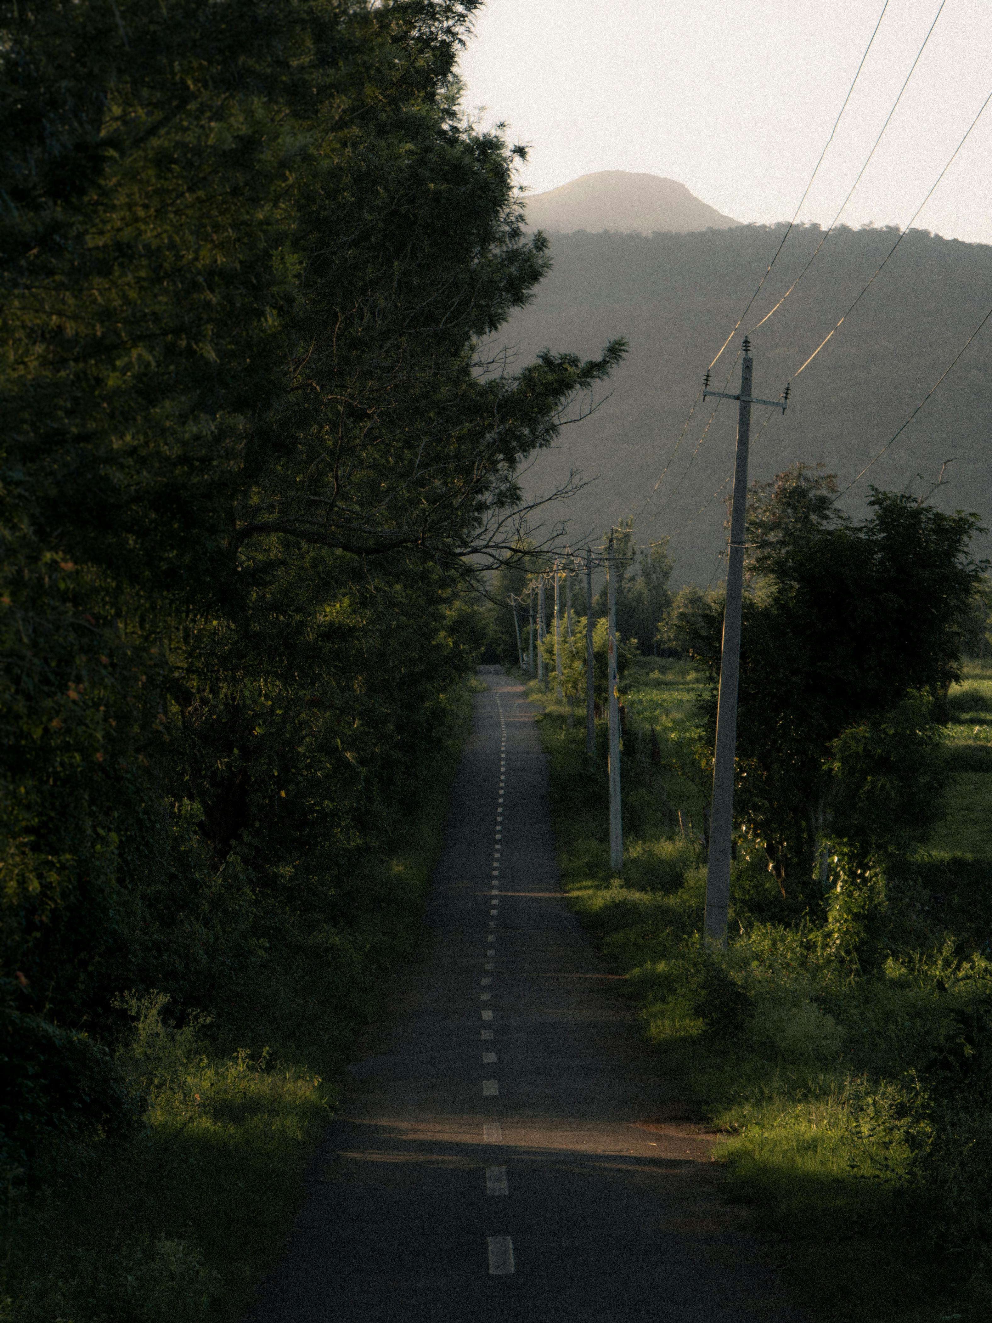
[[[878,849],[932,819],[935,794],[921,799],[886,749],[918,774],[927,763],[927,703],[959,673],[962,611],[984,569],[968,556],[976,516],[872,488],[856,525],[835,491],[832,476],[796,466],[755,483],[749,509],[735,810],[799,900],[816,894],[825,836]],[[702,634],[693,651],[710,671],[713,722],[713,609]],[[915,779],[927,778],[939,785],[936,769]]]

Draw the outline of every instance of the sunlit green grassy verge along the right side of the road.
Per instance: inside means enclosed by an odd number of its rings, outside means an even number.
[[[952,746],[981,738],[988,683],[952,693]],[[992,1097],[972,1069],[992,999],[988,902],[976,905],[985,783],[959,781],[946,839],[891,882],[874,950],[853,954],[825,916],[776,922],[767,872],[741,853],[733,938],[714,955],[700,939],[704,852],[689,832],[705,792],[692,771],[698,684],[686,665],[644,663],[626,688],[622,877],[608,868],[602,751],[590,777],[583,732],[534,693],[563,885],[626,975],[647,1037],[725,1132],[729,1196],[788,1240],[795,1290],[831,1319],[989,1318]],[[988,777],[992,791],[992,767],[959,775]],[[964,843],[960,787],[972,795]]]

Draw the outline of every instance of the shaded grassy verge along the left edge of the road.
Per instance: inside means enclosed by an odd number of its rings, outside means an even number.
[[[440,851],[458,751],[471,720],[468,687],[423,769],[417,819],[378,864],[377,921],[348,945],[344,995],[331,1032],[235,1046],[168,1004],[132,999],[119,1062],[143,1098],[127,1135],[66,1147],[40,1187],[8,1191],[3,1215],[3,1323],[186,1323],[235,1319],[278,1256],[303,1164],[337,1102],[327,1082],[376,1013],[374,971],[413,951]],[[361,949],[361,959],[354,951]],[[282,990],[257,987],[266,999]],[[274,1017],[284,1019],[282,1008]]]

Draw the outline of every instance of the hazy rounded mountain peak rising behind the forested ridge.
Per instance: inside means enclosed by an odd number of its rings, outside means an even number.
[[[634,175],[603,169],[582,175],[570,184],[526,198],[526,218],[533,229],[567,234],[574,230],[615,230],[653,234],[656,230],[725,230],[739,221],[708,206],[685,184],[660,175]]]

